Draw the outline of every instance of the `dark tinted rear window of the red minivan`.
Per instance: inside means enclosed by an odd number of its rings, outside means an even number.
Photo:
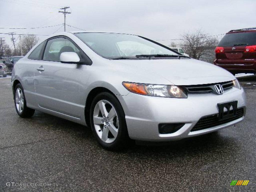
[[[256,31],[228,33],[219,42],[218,47],[256,45]]]

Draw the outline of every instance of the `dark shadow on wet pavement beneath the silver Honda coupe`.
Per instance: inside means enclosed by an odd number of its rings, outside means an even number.
[[[86,142],[91,143],[90,145],[95,145],[95,153],[104,153],[109,156],[116,155],[128,155],[130,160],[137,157],[152,158],[156,156],[157,158],[166,157],[198,157],[199,154],[203,156],[219,156],[225,153],[225,156],[229,156],[231,148],[240,148],[239,143],[236,142],[235,138],[222,135],[219,131],[212,132],[209,134],[185,138],[178,141],[169,142],[143,142],[136,141],[135,145],[132,145],[126,150],[120,152],[111,152],[103,150],[101,146],[96,142],[92,130],[90,127],[86,127],[68,120],[64,120],[46,113],[37,112],[35,115],[27,119],[30,123],[40,124],[43,129],[50,130],[56,134],[61,132],[69,139],[78,139],[81,142],[86,140]]]

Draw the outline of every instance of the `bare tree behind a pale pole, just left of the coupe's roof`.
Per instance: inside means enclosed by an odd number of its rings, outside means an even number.
[[[32,49],[39,40],[39,38],[36,37],[35,35],[25,35],[25,36],[21,36],[21,38],[22,38],[23,55],[26,55],[28,51],[30,51],[30,49]],[[16,52],[17,52],[17,55],[21,55],[20,42],[18,43]]]

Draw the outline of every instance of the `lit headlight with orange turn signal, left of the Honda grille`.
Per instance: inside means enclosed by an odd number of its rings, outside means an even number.
[[[132,93],[156,97],[187,98],[186,93],[175,85],[154,85],[123,82],[123,86]]]

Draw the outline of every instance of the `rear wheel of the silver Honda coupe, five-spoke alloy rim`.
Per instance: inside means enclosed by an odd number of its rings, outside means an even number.
[[[14,104],[17,114],[22,118],[28,118],[34,115],[35,110],[27,107],[27,102],[23,87],[18,83],[14,88]]]

